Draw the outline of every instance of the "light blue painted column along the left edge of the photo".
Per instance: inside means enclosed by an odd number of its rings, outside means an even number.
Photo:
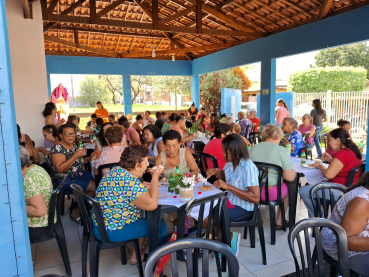
[[[0,0],[0,119],[0,275],[33,276],[5,0]]]

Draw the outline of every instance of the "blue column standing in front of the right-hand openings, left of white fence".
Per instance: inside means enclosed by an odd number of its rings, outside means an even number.
[[[264,59],[261,61],[260,84],[260,120],[263,125],[275,123],[275,105],[276,59]]]

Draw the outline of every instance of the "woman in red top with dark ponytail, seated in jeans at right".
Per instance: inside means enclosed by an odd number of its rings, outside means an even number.
[[[315,162],[314,166],[320,169],[323,176],[328,179],[328,182],[345,186],[350,170],[363,163],[359,147],[350,139],[349,133],[343,128],[330,131],[328,143],[334,151],[337,151],[336,155],[334,155],[328,168],[320,162]],[[352,184],[357,182],[360,174],[360,171],[356,173]],[[314,217],[313,203],[309,195],[309,191],[313,186],[306,185],[301,187],[299,191],[301,199],[309,212],[309,217]],[[335,190],[335,199],[337,200],[341,194],[341,191]],[[326,193],[326,197],[329,197],[328,195],[329,193]]]

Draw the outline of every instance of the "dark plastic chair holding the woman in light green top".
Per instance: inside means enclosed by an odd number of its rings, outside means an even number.
[[[285,218],[285,211],[284,211],[284,201],[282,198],[282,168],[275,164],[269,164],[269,163],[261,163],[261,162],[254,162],[254,164],[259,167],[265,167],[268,171],[269,169],[274,169],[278,173],[278,183],[277,183],[277,200],[271,201],[269,199],[269,190],[268,190],[268,177],[266,182],[262,182],[260,185],[265,187],[265,201],[262,201],[260,199],[260,205],[268,205],[269,206],[269,217],[270,217],[270,232],[271,232],[271,244],[275,245],[275,223],[276,223],[276,215],[275,215],[275,207],[279,206],[279,209],[281,209],[282,213],[282,221],[283,221],[283,231],[286,232],[286,218]],[[260,188],[261,191],[262,187]]]

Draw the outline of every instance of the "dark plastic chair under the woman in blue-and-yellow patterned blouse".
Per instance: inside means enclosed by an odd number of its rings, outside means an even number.
[[[138,272],[140,277],[143,277],[142,260],[140,253],[140,246],[138,239],[122,241],[122,242],[111,242],[108,237],[107,230],[105,229],[104,217],[100,207],[100,203],[95,199],[87,196],[83,189],[73,184],[71,185],[74,194],[76,195],[78,206],[81,212],[81,218],[83,222],[83,236],[82,236],[82,276],[87,276],[87,251],[89,248],[89,261],[90,261],[90,276],[95,277],[99,274],[99,259],[100,250],[111,249],[120,247],[121,262],[126,264],[126,245],[130,242],[134,242],[136,250],[136,258],[138,264]],[[90,217],[90,208],[95,212],[96,222],[100,233],[101,240],[95,238],[93,231],[93,223]]]

